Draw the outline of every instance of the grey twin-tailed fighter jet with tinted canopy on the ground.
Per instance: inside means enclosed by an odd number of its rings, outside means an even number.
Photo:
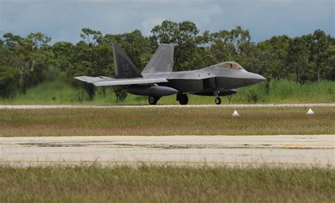
[[[121,86],[127,92],[148,96],[151,105],[161,97],[177,94],[180,104],[187,104],[187,93],[214,96],[215,103],[221,104],[221,96],[237,93],[238,87],[257,84],[265,78],[249,73],[240,64],[227,61],[199,70],[172,71],[173,44],[160,44],[153,57],[140,73],[134,63],[116,42],[112,45],[114,56],[114,77],[79,76],[78,80],[95,86]]]

